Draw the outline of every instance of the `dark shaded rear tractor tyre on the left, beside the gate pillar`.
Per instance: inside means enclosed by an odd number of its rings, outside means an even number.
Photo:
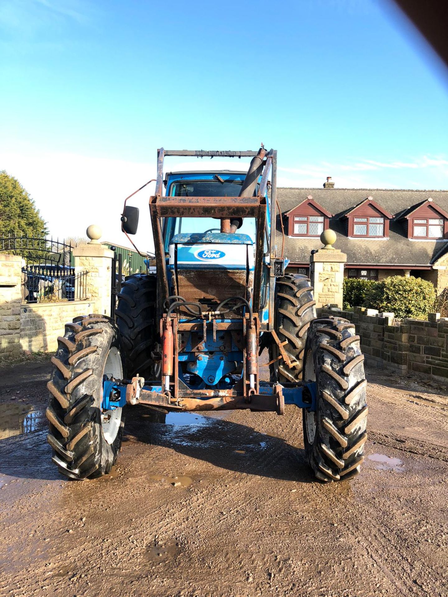
[[[121,341],[125,378],[161,379],[161,362],[151,352],[160,350],[156,323],[157,277],[136,273],[128,276],[118,294],[115,310]]]

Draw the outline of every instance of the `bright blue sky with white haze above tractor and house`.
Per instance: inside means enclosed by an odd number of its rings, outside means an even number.
[[[0,169],[60,235],[121,241],[159,146],[263,141],[284,186],[448,186],[446,72],[384,2],[2,0],[0,68]]]

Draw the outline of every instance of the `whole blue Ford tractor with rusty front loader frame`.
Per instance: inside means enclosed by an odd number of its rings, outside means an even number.
[[[166,156],[250,157],[248,171],[170,172]],[[324,482],[355,475],[366,441],[360,338],[316,318],[309,279],[285,272],[275,233],[277,152],[158,151],[149,200],[157,273],[128,276],[115,319],[78,317],[59,338],[48,383],[48,442],[60,472],[105,475],[125,407],[165,411],[303,409],[309,466]],[[165,189],[165,192],[164,192]],[[122,230],[139,211],[125,205]],[[259,355],[269,354],[261,380]]]

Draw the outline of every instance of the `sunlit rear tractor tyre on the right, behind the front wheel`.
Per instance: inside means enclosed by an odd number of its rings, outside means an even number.
[[[309,278],[300,274],[287,274],[278,278],[275,288],[275,331],[284,344],[290,361],[289,368],[283,359],[271,364],[271,381],[294,382],[302,379],[303,355],[310,322],[316,318],[316,301],[312,296]],[[277,344],[272,343],[269,361],[280,355]]]

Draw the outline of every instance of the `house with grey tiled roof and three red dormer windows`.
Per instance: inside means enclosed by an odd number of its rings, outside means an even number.
[[[448,286],[448,191],[279,187],[289,272],[307,273],[320,233],[336,232],[335,248],[347,255],[344,275],[381,280],[416,276],[437,292]],[[277,217],[277,245],[281,222]]]

